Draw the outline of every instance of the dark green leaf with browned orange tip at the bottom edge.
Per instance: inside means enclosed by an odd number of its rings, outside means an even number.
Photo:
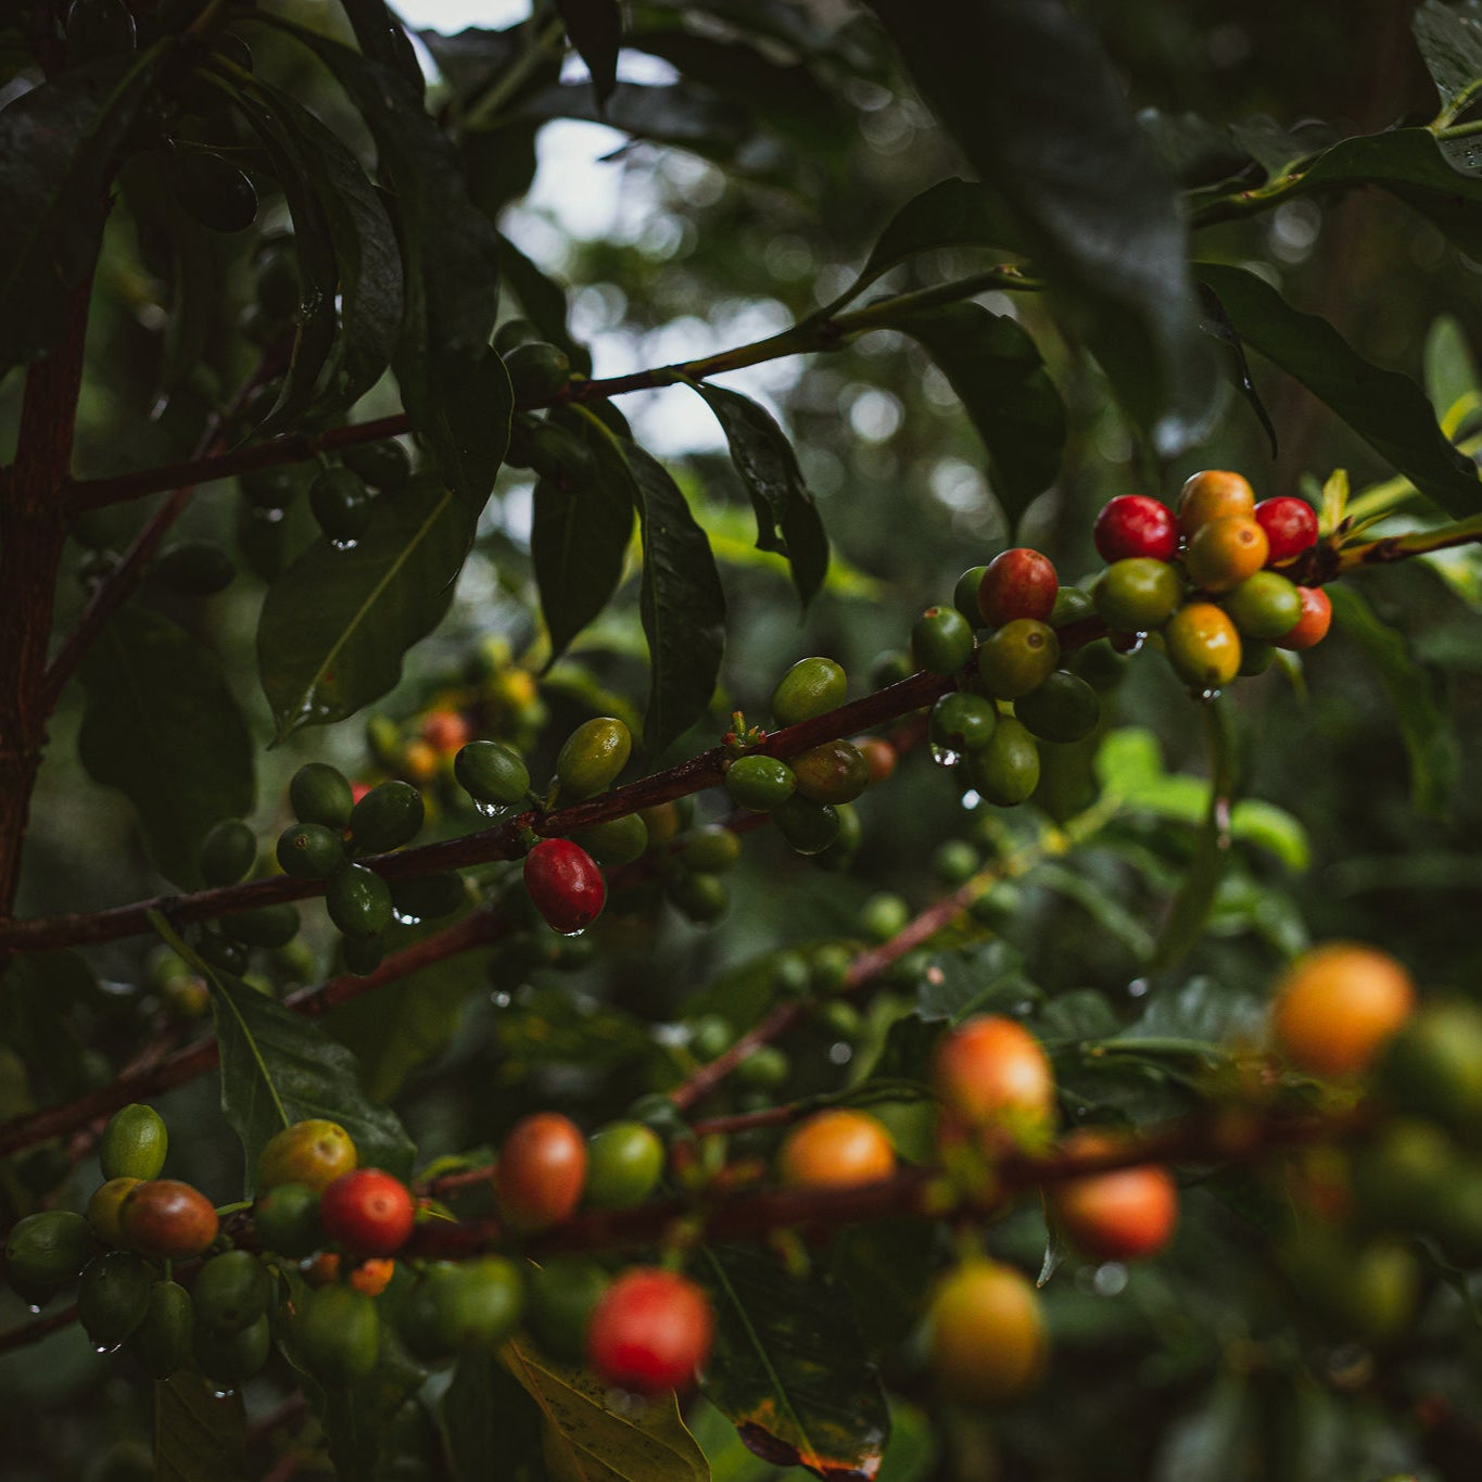
[[[701,1387],[741,1439],[778,1466],[873,1478],[891,1415],[845,1291],[751,1246],[705,1246],[694,1275],[716,1309]]]

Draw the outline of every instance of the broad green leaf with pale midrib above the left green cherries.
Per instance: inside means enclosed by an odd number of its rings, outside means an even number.
[[[262,603],[258,668],[279,741],[391,689],[402,655],[452,602],[473,542],[468,505],[419,474],[373,510],[354,548],[316,541]]]

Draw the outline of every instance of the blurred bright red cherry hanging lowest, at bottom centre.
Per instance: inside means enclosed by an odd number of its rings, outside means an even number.
[[[593,1310],[587,1359],[609,1384],[661,1395],[689,1386],[710,1353],[714,1329],[710,1300],[692,1280],[636,1266]]]

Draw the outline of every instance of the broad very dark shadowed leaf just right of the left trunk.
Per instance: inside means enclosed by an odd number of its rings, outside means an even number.
[[[250,812],[255,791],[252,737],[216,657],[169,618],[129,606],[79,679],[83,766],[127,794],[160,873],[199,886],[206,830]]]

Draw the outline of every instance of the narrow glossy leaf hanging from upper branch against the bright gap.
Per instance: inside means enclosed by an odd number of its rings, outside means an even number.
[[[750,397],[702,381],[694,387],[716,413],[731,461],[751,495],[756,548],[788,559],[793,585],[806,608],[828,572],[828,536],[793,445],[772,413]]]

